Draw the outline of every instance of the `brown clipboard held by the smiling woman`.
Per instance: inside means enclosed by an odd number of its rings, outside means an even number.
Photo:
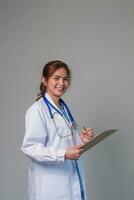
[[[102,133],[98,133],[96,136],[94,136],[88,143],[82,145],[83,153],[110,136],[111,134],[118,131],[118,129],[108,129],[103,131]]]

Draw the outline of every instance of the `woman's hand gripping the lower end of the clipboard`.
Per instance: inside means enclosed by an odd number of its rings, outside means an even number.
[[[65,159],[78,160],[83,151],[82,146],[83,145],[77,145],[67,148],[65,152]]]

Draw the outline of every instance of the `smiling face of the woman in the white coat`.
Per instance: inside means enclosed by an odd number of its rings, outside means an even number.
[[[46,92],[51,97],[60,98],[66,92],[70,80],[66,69],[60,68],[48,80],[43,79],[43,83],[46,86]]]

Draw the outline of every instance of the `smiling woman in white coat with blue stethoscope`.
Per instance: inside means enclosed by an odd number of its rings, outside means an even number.
[[[82,145],[93,137],[91,128],[77,131],[61,99],[71,73],[55,60],[44,66],[40,98],[27,110],[22,151],[30,158],[28,200],[86,200],[80,166]]]

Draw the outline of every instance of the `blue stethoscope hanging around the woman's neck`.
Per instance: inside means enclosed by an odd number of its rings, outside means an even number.
[[[74,118],[73,118],[68,106],[65,104],[65,102],[62,99],[60,99],[60,105],[61,105],[61,108],[62,108],[62,110],[60,111],[55,106],[53,106],[51,104],[51,102],[45,96],[43,96],[43,100],[44,100],[45,104],[47,105],[50,117],[53,120],[54,126],[55,126],[55,128],[57,130],[57,135],[59,137],[61,137],[61,138],[65,138],[65,137],[73,135],[74,130],[77,129],[77,124],[76,124],[76,122],[75,122],[75,120],[74,120]],[[52,114],[52,110],[51,109],[54,109],[55,111],[57,111],[63,117],[63,119],[67,123],[69,129],[71,130],[70,134],[66,134],[65,136],[63,136],[63,135],[60,135],[58,133],[58,129],[57,129],[57,126],[56,126],[56,123],[55,123],[55,120],[54,120],[54,116]]]

